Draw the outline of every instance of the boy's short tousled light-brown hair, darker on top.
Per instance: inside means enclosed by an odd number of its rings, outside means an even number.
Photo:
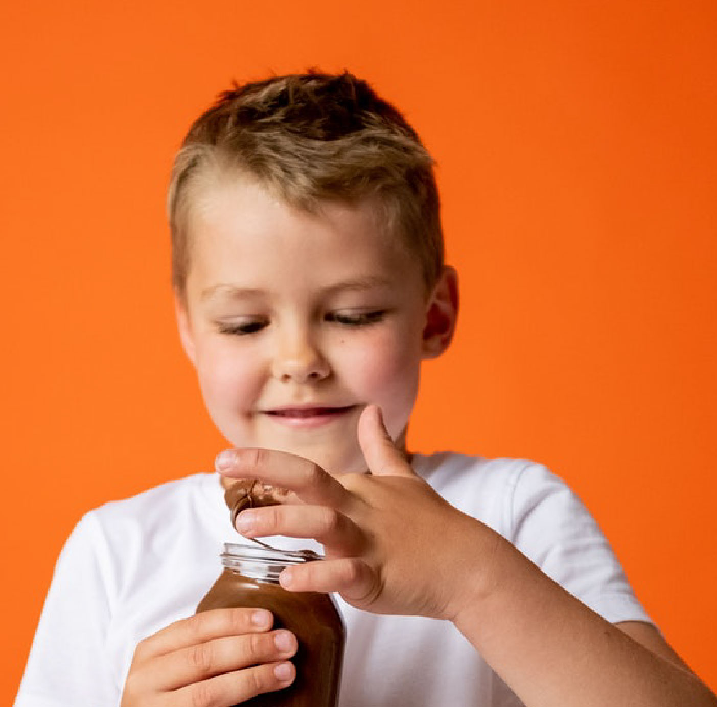
[[[401,113],[349,72],[234,83],[191,125],[167,195],[172,284],[180,295],[190,267],[191,192],[217,169],[247,174],[308,212],[324,201],[372,199],[379,225],[418,258],[428,292],[440,276],[434,160]]]

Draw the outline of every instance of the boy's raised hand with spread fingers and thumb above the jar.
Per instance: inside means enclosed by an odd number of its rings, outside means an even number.
[[[257,478],[295,493],[298,503],[252,508],[237,516],[247,538],[285,535],[323,544],[326,560],[285,569],[295,592],[338,592],[374,613],[453,619],[480,588],[476,558],[500,536],[443,500],[419,478],[389,437],[375,406],[359,419],[359,445],[369,474],[332,477],[286,452],[224,452],[217,469]]]

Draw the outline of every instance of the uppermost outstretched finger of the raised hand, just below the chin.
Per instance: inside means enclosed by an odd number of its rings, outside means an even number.
[[[318,464],[289,452],[226,450],[217,456],[215,467],[230,478],[259,479],[288,489],[305,503],[341,508],[351,498],[341,483]]]

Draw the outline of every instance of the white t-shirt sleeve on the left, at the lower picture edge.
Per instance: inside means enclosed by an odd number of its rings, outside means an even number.
[[[60,553],[15,707],[115,707],[120,686],[105,640],[113,601],[105,538],[92,513]]]

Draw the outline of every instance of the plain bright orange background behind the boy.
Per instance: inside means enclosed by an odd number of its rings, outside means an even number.
[[[310,66],[440,163],[462,317],[413,447],[550,465],[717,687],[713,0],[25,0],[0,28],[0,702],[80,515],[223,447],[172,318],[169,166],[232,78]]]

